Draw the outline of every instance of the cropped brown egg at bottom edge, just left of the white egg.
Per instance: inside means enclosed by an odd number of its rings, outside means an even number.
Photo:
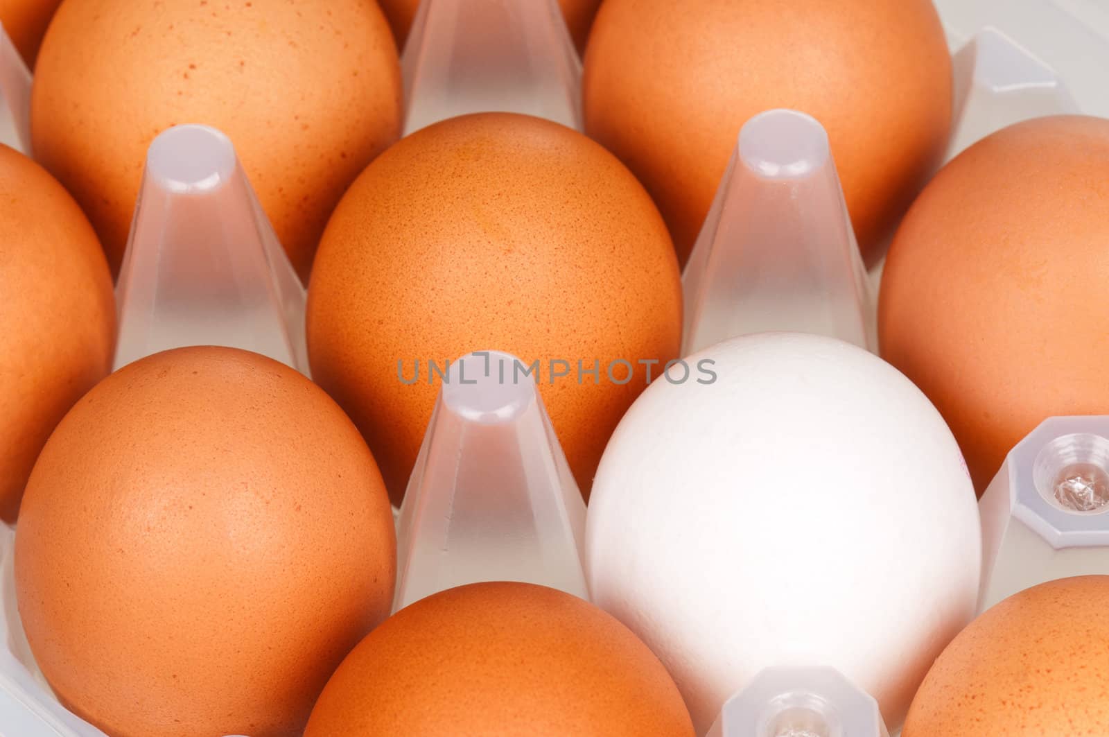
[[[401,609],[335,672],[305,737],[692,737],[678,687],[614,618],[530,584]]]

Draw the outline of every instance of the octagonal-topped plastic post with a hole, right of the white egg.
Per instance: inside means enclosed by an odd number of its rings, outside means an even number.
[[[979,502],[986,610],[1029,586],[1109,574],[1109,416],[1051,417]]]

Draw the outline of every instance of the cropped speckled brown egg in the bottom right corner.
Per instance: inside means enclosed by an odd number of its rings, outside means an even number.
[[[1100,737],[1109,725],[1109,576],[990,608],[936,660],[903,737]]]

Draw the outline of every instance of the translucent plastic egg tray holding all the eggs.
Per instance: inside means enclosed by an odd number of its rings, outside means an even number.
[[[936,0],[936,4],[955,60],[957,121],[948,159],[984,135],[1024,119],[1061,112],[1109,117],[1109,94],[1103,87],[1103,70],[1109,69],[1109,9],[1095,0]],[[465,23],[436,24],[425,22],[423,16],[418,18],[409,48],[450,49],[452,55],[405,54],[405,132],[481,110],[531,113],[580,129],[577,54],[568,37],[551,33],[549,21],[532,20],[521,21],[500,46],[490,46],[467,44]],[[472,63],[477,57],[484,57],[486,63]],[[471,60],[469,65],[467,59]],[[488,63],[490,59],[496,63]],[[485,71],[474,71],[479,69]],[[489,78],[489,69],[500,70],[497,79]],[[30,74],[0,33],[0,141],[23,150],[29,89]],[[711,226],[704,229],[694,249],[685,275],[683,355],[721,336],[769,329],[823,332],[873,349],[873,293],[881,266],[868,276],[863,271],[823,129],[804,115],[767,114],[777,117],[764,119],[762,125],[755,119],[741,134],[709,216]],[[714,286],[709,265],[718,260],[710,259],[710,254],[715,241],[724,240],[731,222],[754,216],[754,209],[744,202],[757,200],[759,192],[752,189],[757,185],[745,172],[773,166],[774,152],[783,141],[800,142],[813,152],[804,174],[794,176],[792,184],[801,193],[801,201],[811,208],[807,228],[813,232],[802,229],[793,233],[790,242],[807,250],[796,254],[798,258],[764,264],[763,271],[773,273],[775,294],[810,294],[813,284],[820,283],[822,293],[833,296],[820,310],[808,305],[783,316],[777,305],[765,302],[760,285],[751,284],[741,290],[741,297],[754,305],[744,311],[754,317],[742,325],[732,324],[725,313],[736,311],[713,306],[721,289]],[[182,194],[192,196],[191,206],[203,208],[204,214],[197,216],[200,210],[171,206]],[[210,226],[212,222],[220,226]],[[824,235],[817,238],[816,230]],[[189,256],[205,264],[206,271],[197,276],[195,270],[190,270],[187,280],[173,267],[174,259],[182,258],[184,243],[208,244],[207,252]],[[728,258],[757,258],[759,250],[757,243],[747,243]],[[214,343],[253,350],[308,373],[304,290],[257,204],[232,142],[214,129],[177,127],[152,144],[116,296],[121,316],[116,367],[159,350]],[[731,299],[736,299],[734,293]],[[525,400],[521,402],[527,404]],[[457,400],[440,396],[433,432],[457,433],[457,427],[439,417],[444,403],[452,401]],[[542,545],[548,552],[561,551],[556,557],[572,565],[536,583],[581,594],[584,583],[577,562],[584,511],[564,458],[557,451],[557,441],[550,442],[552,431],[541,403],[529,406],[538,411],[523,413],[511,432],[530,438],[523,444],[539,447],[546,443],[556,452],[542,456],[545,465],[529,475],[538,479],[535,484],[540,493],[523,495],[515,503],[530,505],[529,513],[538,512],[531,517],[550,523],[542,527],[537,522],[522,533],[506,529],[506,537],[522,535],[525,539],[546,541]],[[1078,458],[1109,467],[1109,448],[1090,440],[1109,435],[1105,425],[1097,418],[1052,420],[1010,454],[981,501],[987,567],[996,561],[1005,571],[990,587],[984,586],[983,606],[1039,580],[1097,569],[1109,542],[1105,539],[1106,531],[1096,529],[1096,525],[1083,529],[1083,517],[1068,515],[1035,489],[1040,486],[1037,479],[1049,474],[1052,464]],[[427,474],[435,473],[424,451],[417,472],[409,497],[420,493]],[[470,473],[480,474],[480,470]],[[451,481],[461,483],[458,478]],[[549,508],[538,509],[536,499],[540,498],[550,503]],[[419,536],[450,533],[431,529],[406,513],[400,519],[398,606],[418,598],[421,587],[438,590],[465,583],[430,582],[431,574],[420,573],[420,546],[428,543]],[[482,509],[477,505],[468,513],[477,517]],[[14,599],[14,534],[12,528],[0,526],[0,737],[102,736],[57,701],[34,665]],[[439,542],[436,538],[434,544]],[[498,559],[502,564],[507,558],[526,567],[535,548],[518,553],[486,555],[487,568],[462,567],[460,575],[467,580],[527,578],[518,571],[494,569]],[[800,709],[810,716],[823,714],[825,726],[835,723],[852,737],[886,734],[874,700],[838,674],[824,670],[766,672],[724,706],[721,720],[710,734],[749,735],[742,725],[751,723],[753,713],[764,710],[767,698],[788,688],[807,695],[807,700],[782,704],[783,713]]]

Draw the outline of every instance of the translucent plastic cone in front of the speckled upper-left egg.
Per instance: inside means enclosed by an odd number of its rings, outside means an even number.
[[[151,144],[115,295],[116,368],[225,345],[308,373],[304,286],[214,128],[176,125]]]

